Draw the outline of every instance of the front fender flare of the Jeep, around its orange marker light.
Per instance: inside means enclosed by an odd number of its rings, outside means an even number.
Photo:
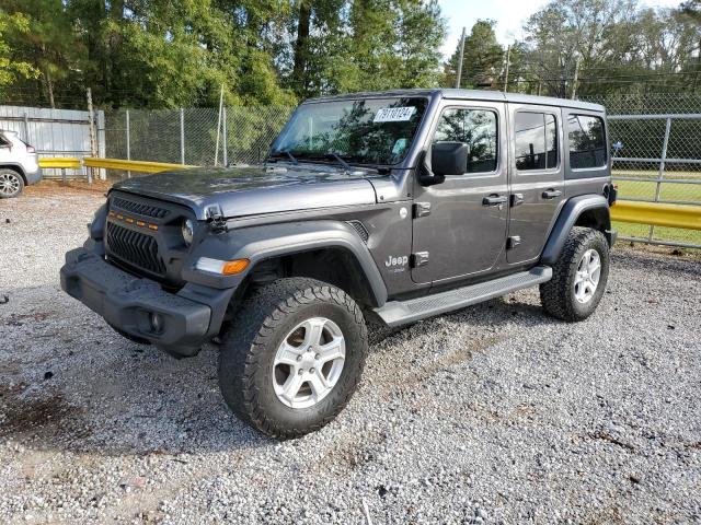
[[[364,273],[376,305],[381,306],[387,302],[387,287],[370,250],[353,226],[343,221],[265,224],[207,235],[193,250],[192,262],[183,269],[183,278],[188,282],[215,288],[234,288],[262,260],[322,248],[340,248],[352,255]],[[238,276],[205,275],[194,269],[199,257],[219,260],[249,259],[251,264]]]

